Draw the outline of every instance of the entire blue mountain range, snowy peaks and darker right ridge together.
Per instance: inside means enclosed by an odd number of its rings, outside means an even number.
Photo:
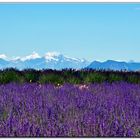
[[[48,52],[44,56],[39,56],[38,53],[33,52],[31,55],[25,57],[16,57],[9,59],[4,54],[0,55],[0,69],[17,68],[19,70],[33,68],[33,69],[56,69],[61,70],[65,68],[72,69],[104,69],[104,70],[126,70],[139,71],[140,63],[138,62],[118,62],[114,60],[107,60],[105,62],[93,61],[89,62],[86,59],[71,58],[56,52]]]

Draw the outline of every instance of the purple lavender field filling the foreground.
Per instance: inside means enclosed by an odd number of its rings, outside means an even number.
[[[140,85],[0,85],[0,136],[140,137]]]

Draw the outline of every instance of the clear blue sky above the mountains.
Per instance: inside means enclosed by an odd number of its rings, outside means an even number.
[[[0,54],[140,61],[140,4],[0,4]]]

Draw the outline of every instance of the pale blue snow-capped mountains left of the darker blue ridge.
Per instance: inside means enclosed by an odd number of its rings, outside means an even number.
[[[48,52],[42,57],[33,52],[25,57],[14,57],[8,60],[4,57],[0,58],[0,69],[13,67],[20,70],[27,68],[60,70],[65,68],[81,69],[88,65],[89,62],[85,59],[71,58],[56,52]]]

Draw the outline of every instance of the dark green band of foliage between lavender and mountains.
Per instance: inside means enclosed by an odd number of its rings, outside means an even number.
[[[71,84],[88,84],[102,82],[127,81],[130,83],[140,83],[140,72],[123,72],[123,71],[96,71],[96,70],[34,70],[27,69],[19,71],[16,69],[5,69],[0,71],[0,84],[10,82],[37,82],[41,84],[51,83],[61,85],[64,83]]]

